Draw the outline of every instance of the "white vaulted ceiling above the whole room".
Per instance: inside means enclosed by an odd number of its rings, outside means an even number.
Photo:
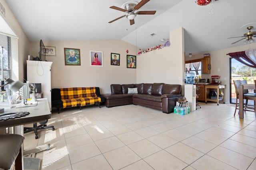
[[[156,14],[137,15],[133,25],[126,17],[108,23],[126,14],[109,7],[122,8],[129,0],[6,2],[30,41],[123,39],[146,49],[184,27],[185,53],[197,54],[244,45],[244,40],[231,43],[248,32],[247,26],[256,28],[255,0],[212,0],[207,6],[198,6],[195,0],[150,0],[138,11],[156,10]]]

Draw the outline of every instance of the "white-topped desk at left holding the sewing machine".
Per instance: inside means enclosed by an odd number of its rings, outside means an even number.
[[[4,108],[4,113],[0,113],[0,115],[18,111],[28,111],[30,114],[20,118],[2,120],[0,121],[0,128],[40,122],[46,119],[50,119],[52,116],[47,98],[38,99],[37,106],[30,107],[11,108],[15,105],[9,105],[4,103],[0,103],[0,107]]]

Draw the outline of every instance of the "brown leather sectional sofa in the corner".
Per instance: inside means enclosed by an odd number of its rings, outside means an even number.
[[[110,88],[111,94],[101,95],[106,99],[106,107],[134,104],[172,113],[178,99],[183,98],[180,84],[111,84]],[[128,93],[128,88],[135,88],[138,93]]]

